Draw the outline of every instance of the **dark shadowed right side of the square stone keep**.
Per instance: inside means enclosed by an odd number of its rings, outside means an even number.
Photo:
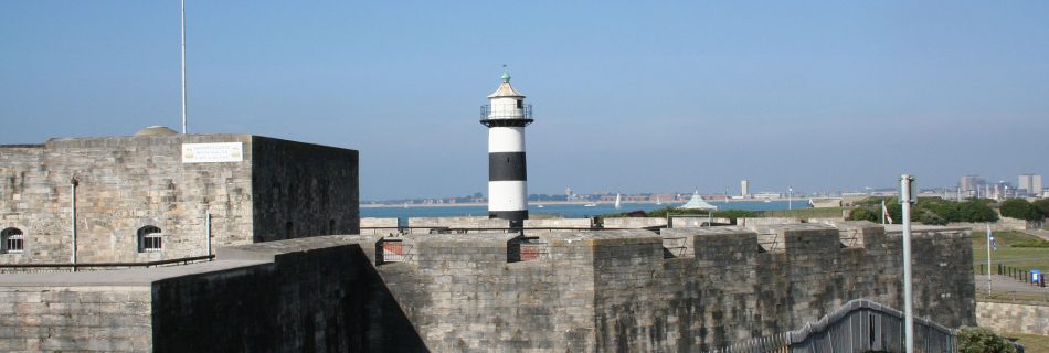
[[[358,152],[252,137],[254,240],[360,233]]]

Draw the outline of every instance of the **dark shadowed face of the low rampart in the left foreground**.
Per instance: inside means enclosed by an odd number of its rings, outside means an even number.
[[[358,245],[157,281],[156,352],[428,352]]]

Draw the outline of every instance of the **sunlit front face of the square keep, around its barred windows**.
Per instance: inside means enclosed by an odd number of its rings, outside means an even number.
[[[19,227],[24,252],[0,255],[0,263],[71,261],[74,175],[78,263],[205,255],[205,212],[213,214],[216,246],[250,243],[251,138],[188,136],[184,141],[242,142],[244,161],[183,164],[181,136],[52,139],[36,148],[3,148],[0,227]],[[146,225],[166,235],[163,252],[138,252],[137,231]]]

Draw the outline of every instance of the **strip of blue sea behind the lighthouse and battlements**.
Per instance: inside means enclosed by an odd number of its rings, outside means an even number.
[[[707,203],[718,206],[718,210],[743,210],[743,211],[778,211],[787,208],[808,208],[807,200],[794,201],[707,201]],[[600,203],[595,206],[585,206],[582,204],[547,204],[541,207],[536,204],[528,206],[528,213],[560,215],[565,218],[585,218],[612,213],[624,213],[634,211],[655,211],[666,207],[680,206],[684,203],[625,203],[616,210],[614,204]],[[406,217],[455,217],[455,216],[484,216],[488,215],[487,205],[476,206],[378,206],[361,207],[361,217],[378,218],[406,218]]]

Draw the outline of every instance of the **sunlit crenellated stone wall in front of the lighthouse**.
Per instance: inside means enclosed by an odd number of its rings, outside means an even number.
[[[507,263],[491,234],[405,237],[412,256],[379,272],[436,351],[696,351],[797,329],[851,299],[902,307],[899,248],[880,226],[771,229],[549,234],[523,263]],[[667,258],[682,236],[695,255]],[[965,232],[915,234],[915,314],[974,322],[968,244]]]

